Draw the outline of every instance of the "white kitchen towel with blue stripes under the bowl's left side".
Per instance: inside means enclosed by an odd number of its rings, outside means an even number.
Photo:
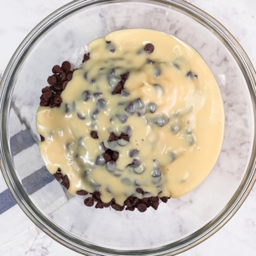
[[[10,111],[10,119],[10,149],[15,168],[19,170],[20,182],[32,202],[47,215],[61,207],[67,197],[53,175],[45,168],[37,142],[26,126],[20,124],[13,109]],[[28,158],[28,155],[31,157]],[[37,236],[34,224],[17,205],[1,172],[0,227],[0,255],[21,255],[26,241]]]

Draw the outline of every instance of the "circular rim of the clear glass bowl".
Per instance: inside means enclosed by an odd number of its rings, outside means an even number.
[[[8,145],[9,147],[9,135],[7,132],[8,122],[5,122],[4,120],[8,119],[10,102],[6,104],[4,99],[8,99],[12,93],[12,88],[9,87],[11,87],[15,71],[17,67],[19,67],[20,59],[22,59],[22,56],[26,55],[26,52],[32,46],[32,42],[36,41],[40,35],[44,33],[50,26],[53,26],[56,21],[61,20],[67,15],[71,15],[73,12],[78,11],[79,9],[86,8],[93,4],[118,2],[119,1],[117,0],[74,0],[71,3],[67,3],[66,5],[62,6],[60,9],[56,9],[52,14],[38,23],[38,25],[35,26],[26,36],[26,38],[21,42],[20,46],[16,49],[15,54],[10,59],[9,64],[3,73],[3,79],[0,84],[0,143],[2,145]],[[172,8],[178,9],[181,13],[186,14],[192,19],[196,20],[202,26],[205,26],[208,29],[212,29],[215,32],[215,35],[220,40],[222,40],[226,46],[228,46],[230,53],[233,55],[233,57],[235,57],[237,64],[241,68],[241,72],[243,73],[244,78],[247,80],[247,86],[250,92],[250,96],[252,97],[253,121],[255,127],[256,73],[252,62],[249,60],[244,49],[241,48],[241,45],[223,25],[212,18],[211,15],[208,15],[206,12],[190,3],[184,2],[183,0],[123,0],[123,2],[159,3],[162,5],[169,5]],[[58,226],[52,224],[48,218],[46,218],[41,212],[38,211],[38,208],[33,205],[32,201],[30,201],[29,197],[26,195],[19,182],[16,182],[18,181],[18,178],[15,176],[9,148],[7,150],[0,150],[0,169],[12,195],[14,195],[15,200],[23,212],[26,213],[27,217],[30,218],[34,224],[36,224],[41,230],[43,230],[55,241],[60,242],[62,245],[73,249],[78,253],[83,253],[85,255],[145,255],[149,253],[150,255],[174,255],[177,253],[182,253],[191,247],[195,247],[197,244],[212,236],[216,231],[221,229],[224,224],[226,224],[241,207],[242,203],[246,200],[247,195],[249,195],[251,189],[253,188],[253,184],[256,181],[255,136],[253,138],[252,152],[253,154],[251,155],[250,161],[248,163],[246,175],[243,177],[239,188],[236,190],[236,193],[230,199],[230,202],[227,205],[229,206],[228,210],[223,210],[218,214],[216,218],[213,218],[212,221],[204,225],[200,230],[195,231],[193,234],[185,237],[183,240],[173,242],[172,244],[176,244],[175,247],[166,245],[150,250],[146,249],[137,251],[113,251],[112,249],[106,249],[81,242],[79,239],[72,238],[71,236],[64,234]],[[204,231],[201,233],[201,230],[203,229]]]

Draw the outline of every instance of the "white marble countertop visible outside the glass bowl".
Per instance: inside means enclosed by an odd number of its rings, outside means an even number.
[[[0,9],[0,79],[11,55],[39,21],[69,0],[9,0]],[[255,0],[188,0],[220,21],[246,50],[256,67]],[[15,19],[14,19],[15,17]],[[21,211],[19,209],[19,211]],[[26,255],[79,255],[45,235],[36,226],[35,237],[24,244]],[[1,230],[0,230],[1,232]],[[256,255],[256,185],[236,215],[207,241],[183,256]],[[6,255],[1,253],[0,255]],[[9,255],[25,255],[9,254]]]

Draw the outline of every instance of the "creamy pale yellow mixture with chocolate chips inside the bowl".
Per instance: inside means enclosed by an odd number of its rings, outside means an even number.
[[[53,68],[37,128],[49,172],[88,207],[145,212],[195,189],[224,136],[209,67],[183,41],[129,29],[89,44],[82,68]]]

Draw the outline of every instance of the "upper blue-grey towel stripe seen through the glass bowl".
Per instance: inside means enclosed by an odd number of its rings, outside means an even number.
[[[30,131],[21,130],[10,138],[10,149],[13,156],[22,150],[31,147],[35,142]]]

